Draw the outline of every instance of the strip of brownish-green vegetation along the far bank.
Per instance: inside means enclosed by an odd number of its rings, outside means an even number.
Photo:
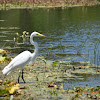
[[[0,7],[68,7],[68,6],[92,6],[100,4],[97,0],[0,0]]]

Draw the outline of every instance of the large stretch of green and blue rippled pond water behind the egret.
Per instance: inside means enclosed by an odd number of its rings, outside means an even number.
[[[100,6],[0,10],[0,47],[16,56],[33,50],[29,38],[15,33],[38,31],[39,55],[48,60],[91,61],[100,65]]]

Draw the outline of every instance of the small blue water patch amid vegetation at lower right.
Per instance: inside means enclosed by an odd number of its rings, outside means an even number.
[[[70,88],[73,89],[75,86],[86,86],[91,87],[100,86],[100,74],[75,74],[80,76],[80,80],[74,78],[72,80],[64,79],[64,89]]]

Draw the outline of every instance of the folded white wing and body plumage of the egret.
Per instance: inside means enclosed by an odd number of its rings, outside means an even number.
[[[25,64],[29,63],[30,59],[31,53],[29,51],[20,53],[2,70],[3,74],[11,72],[16,67],[23,67]]]

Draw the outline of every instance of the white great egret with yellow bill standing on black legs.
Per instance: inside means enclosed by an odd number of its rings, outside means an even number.
[[[46,37],[45,35],[42,35],[38,32],[33,32],[30,35],[30,42],[32,45],[34,45],[35,50],[33,53],[31,53],[30,51],[23,51],[22,53],[20,53],[19,55],[17,55],[3,70],[3,75],[8,75],[10,72],[12,72],[15,68],[21,67],[21,71],[19,73],[19,77],[18,77],[18,83],[19,83],[19,78],[20,75],[22,73],[22,80],[25,83],[24,77],[23,77],[23,67],[26,64],[32,64],[33,61],[35,60],[37,54],[38,54],[38,44],[37,42],[33,41],[33,37]]]

